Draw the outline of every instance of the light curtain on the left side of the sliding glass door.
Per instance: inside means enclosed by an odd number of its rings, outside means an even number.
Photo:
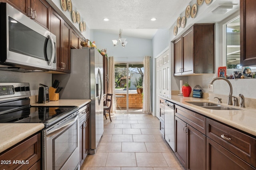
[[[108,57],[108,93],[113,94],[111,113],[116,112],[114,57]]]

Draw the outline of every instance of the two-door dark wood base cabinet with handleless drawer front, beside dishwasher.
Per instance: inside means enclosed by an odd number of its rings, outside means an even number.
[[[176,106],[175,154],[186,169],[206,168],[206,118]],[[199,130],[201,131],[199,131]],[[204,132],[204,134],[202,133]]]

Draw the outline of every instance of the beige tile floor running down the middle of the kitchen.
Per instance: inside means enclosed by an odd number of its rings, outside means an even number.
[[[159,131],[159,120],[146,114],[112,114],[96,153],[81,170],[184,170]]]

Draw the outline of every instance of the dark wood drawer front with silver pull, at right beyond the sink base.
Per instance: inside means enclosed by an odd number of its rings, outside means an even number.
[[[207,136],[256,167],[256,139],[207,118]]]

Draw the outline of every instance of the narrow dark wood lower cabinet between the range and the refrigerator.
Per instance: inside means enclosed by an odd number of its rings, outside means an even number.
[[[80,113],[82,115],[80,119],[80,124],[79,124],[79,147],[80,147],[80,156],[79,156],[79,161],[80,161],[80,166],[82,166],[88,152],[90,149],[89,145],[89,119],[90,119],[90,107],[89,105],[86,105],[86,108]]]

